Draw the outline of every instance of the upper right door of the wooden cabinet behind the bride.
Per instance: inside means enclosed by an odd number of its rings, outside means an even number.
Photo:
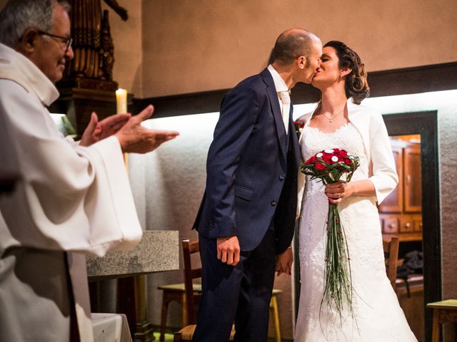
[[[403,182],[405,212],[421,212],[422,183],[421,183],[421,150],[417,144],[411,144],[403,149]]]

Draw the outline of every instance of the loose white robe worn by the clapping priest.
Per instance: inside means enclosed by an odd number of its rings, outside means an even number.
[[[21,176],[0,195],[1,341],[68,341],[72,296],[81,341],[93,341],[84,254],[141,238],[119,141],[66,140],[46,109],[58,97],[34,63],[0,44],[1,123]]]

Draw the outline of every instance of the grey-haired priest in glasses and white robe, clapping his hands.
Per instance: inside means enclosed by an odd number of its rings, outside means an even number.
[[[66,140],[46,108],[73,56],[66,1],[0,12],[0,116],[20,177],[0,195],[1,341],[93,341],[85,254],[130,249],[142,232],[122,152],[178,135],[144,128],[149,106],[101,122],[93,113],[81,141]]]

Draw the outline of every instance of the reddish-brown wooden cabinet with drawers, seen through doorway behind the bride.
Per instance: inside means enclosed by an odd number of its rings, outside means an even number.
[[[421,146],[391,139],[398,185],[379,205],[382,232],[401,241],[422,239]]]

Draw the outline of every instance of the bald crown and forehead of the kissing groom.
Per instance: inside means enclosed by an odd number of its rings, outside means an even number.
[[[273,48],[274,61],[281,65],[287,65],[296,61],[300,56],[311,56],[313,44],[321,40],[310,31],[303,28],[289,28],[281,33],[276,39]]]

